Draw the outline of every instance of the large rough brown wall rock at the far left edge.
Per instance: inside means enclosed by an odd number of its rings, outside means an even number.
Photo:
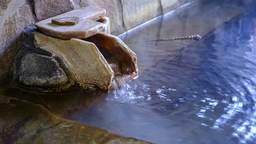
[[[7,7],[8,2],[12,6]],[[22,31],[33,26],[36,18],[31,7],[26,3],[21,2],[18,6],[13,1],[1,1],[0,3],[3,8],[0,9],[2,13],[0,16],[0,86],[2,86],[9,82],[13,59],[23,47]]]

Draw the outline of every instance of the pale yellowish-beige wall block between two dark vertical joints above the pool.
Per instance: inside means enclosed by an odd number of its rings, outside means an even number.
[[[127,30],[141,25],[162,14],[160,1],[156,0],[121,0],[123,23]]]

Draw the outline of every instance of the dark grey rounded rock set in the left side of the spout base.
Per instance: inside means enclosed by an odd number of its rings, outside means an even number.
[[[54,58],[27,53],[21,61],[19,81],[27,86],[56,87],[64,85],[67,77]]]

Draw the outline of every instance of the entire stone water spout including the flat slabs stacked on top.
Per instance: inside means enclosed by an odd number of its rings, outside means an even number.
[[[24,33],[25,47],[16,58],[14,80],[37,89],[62,90],[77,84],[111,90],[113,78],[137,77],[136,54],[118,37],[100,32],[103,23],[97,20],[108,21],[105,12],[81,7],[36,23],[44,33]],[[105,32],[108,29],[105,23]]]

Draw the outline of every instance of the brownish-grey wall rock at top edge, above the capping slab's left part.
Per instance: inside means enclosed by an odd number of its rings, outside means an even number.
[[[74,9],[70,0],[34,0],[35,15],[38,21],[58,16]]]

